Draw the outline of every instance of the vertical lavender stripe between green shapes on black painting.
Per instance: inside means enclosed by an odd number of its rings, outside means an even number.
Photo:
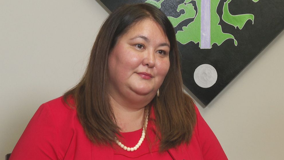
[[[200,48],[211,48],[210,0],[201,1],[201,42]]]

